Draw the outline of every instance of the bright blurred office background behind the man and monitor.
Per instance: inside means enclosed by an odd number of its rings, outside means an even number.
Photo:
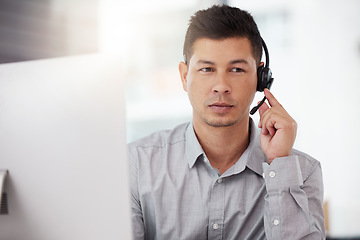
[[[360,237],[358,0],[0,0],[0,63],[118,57],[132,141],[191,120],[178,74],[187,23],[199,8],[221,3],[258,23],[272,91],[299,124],[295,147],[322,163],[328,235]]]

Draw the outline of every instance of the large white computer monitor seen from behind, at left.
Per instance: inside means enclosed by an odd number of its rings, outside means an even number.
[[[131,239],[121,80],[99,54],[0,65],[1,240]]]

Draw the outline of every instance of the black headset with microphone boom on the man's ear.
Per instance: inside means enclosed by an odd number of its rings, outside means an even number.
[[[258,91],[258,92],[263,92],[265,90],[265,88],[270,89],[271,85],[274,82],[274,78],[272,77],[272,72],[270,69],[269,51],[267,49],[264,39],[261,38],[261,42],[262,42],[262,47],[265,52],[266,62],[265,62],[265,66],[261,65],[257,69],[256,91]],[[261,100],[261,102],[258,105],[256,105],[253,109],[251,109],[250,114],[253,115],[260,108],[260,106],[265,102],[265,100],[266,100],[266,97],[264,97]]]

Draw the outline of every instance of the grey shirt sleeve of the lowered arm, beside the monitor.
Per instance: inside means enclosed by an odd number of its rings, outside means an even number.
[[[139,190],[138,190],[138,159],[134,152],[129,148],[128,151],[130,160],[130,191],[131,191],[131,219],[133,229],[133,240],[145,239],[145,227],[143,221],[143,214],[141,210]]]

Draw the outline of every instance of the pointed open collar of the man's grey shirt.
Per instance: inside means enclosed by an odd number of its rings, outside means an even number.
[[[244,171],[245,167],[248,167],[255,173],[262,176],[263,168],[262,163],[266,162],[266,156],[260,147],[259,140],[259,130],[255,126],[254,121],[250,118],[249,123],[250,129],[250,143],[245,152],[241,155],[240,159],[236,162],[236,164],[228,169],[224,174],[233,175]],[[192,168],[199,156],[204,155],[204,151],[196,137],[193,123],[187,127],[186,130],[186,157],[189,164],[189,167]]]

